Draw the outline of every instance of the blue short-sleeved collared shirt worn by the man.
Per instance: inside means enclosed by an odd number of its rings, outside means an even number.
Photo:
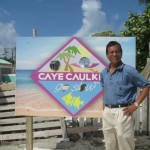
[[[123,63],[112,74],[109,67],[105,68],[100,82],[104,87],[104,104],[112,105],[134,103],[137,87],[149,85],[134,67]]]

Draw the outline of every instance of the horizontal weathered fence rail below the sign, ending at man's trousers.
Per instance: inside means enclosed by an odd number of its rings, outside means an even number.
[[[67,128],[67,133],[73,134],[73,133],[91,132],[100,130],[102,130],[100,126],[85,126],[85,127]]]

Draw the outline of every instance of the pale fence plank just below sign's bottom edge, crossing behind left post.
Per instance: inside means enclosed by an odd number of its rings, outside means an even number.
[[[33,122],[47,122],[47,121],[56,121],[59,118],[50,118],[50,117],[33,117]],[[0,125],[7,125],[7,124],[25,124],[26,118],[8,118],[8,119],[0,119]]]

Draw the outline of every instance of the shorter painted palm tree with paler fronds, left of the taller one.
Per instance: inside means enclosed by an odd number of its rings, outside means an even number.
[[[63,53],[58,54],[57,57],[56,57],[56,59],[59,59],[60,61],[63,60],[64,63],[65,63],[65,65],[68,66],[67,60],[68,60],[69,58],[71,58],[71,57],[72,57],[72,58],[75,58],[75,56],[73,56],[71,53],[63,52]],[[66,66],[65,66],[64,71],[68,71],[68,70],[66,69]],[[70,71],[70,72],[73,72],[73,68],[72,68],[70,65],[68,66],[68,68],[69,68],[69,71]]]

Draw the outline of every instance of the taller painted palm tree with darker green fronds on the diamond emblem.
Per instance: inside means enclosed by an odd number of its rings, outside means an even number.
[[[68,59],[67,59],[67,61],[66,61],[66,66],[65,66],[65,71],[68,71],[68,68],[72,68],[71,67],[71,65],[69,64],[69,62],[70,62],[70,56],[71,56],[71,54],[74,54],[74,55],[76,55],[76,54],[80,54],[80,51],[77,49],[77,47],[75,47],[75,46],[69,46],[69,47],[67,47],[66,49],[65,49],[65,52],[67,52],[68,54],[70,54],[69,55],[69,57],[68,57]],[[72,71],[73,72],[73,71]]]

